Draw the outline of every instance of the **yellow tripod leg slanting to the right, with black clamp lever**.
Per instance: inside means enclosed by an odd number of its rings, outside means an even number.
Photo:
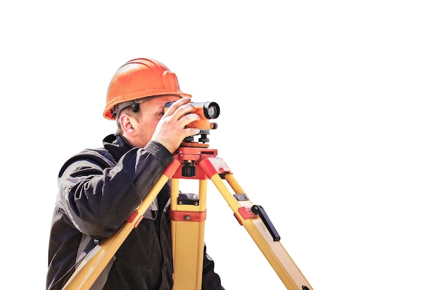
[[[281,281],[291,290],[313,290],[311,285],[297,268],[293,259],[279,242],[279,236],[272,236],[263,220],[252,212],[254,204],[236,181],[232,173],[224,175],[228,184],[236,195],[232,195],[220,175],[213,175],[210,179],[220,191],[224,199],[233,210],[240,224],[245,227],[265,258],[269,261]],[[238,196],[240,198],[238,198]]]

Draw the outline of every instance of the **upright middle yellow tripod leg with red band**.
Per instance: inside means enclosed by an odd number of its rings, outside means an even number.
[[[199,179],[197,198],[179,196],[179,179],[171,179],[173,290],[201,290],[204,258],[207,179]]]

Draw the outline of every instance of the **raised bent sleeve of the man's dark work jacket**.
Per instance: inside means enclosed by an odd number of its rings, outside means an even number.
[[[144,200],[173,160],[163,145],[133,148],[115,164],[101,152],[85,150],[60,170],[57,205],[84,234],[114,234]]]

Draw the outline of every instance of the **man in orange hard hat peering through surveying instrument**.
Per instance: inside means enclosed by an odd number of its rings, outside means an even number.
[[[174,103],[165,112],[167,102]],[[72,156],[58,175],[47,289],[62,289],[95,241],[117,232],[144,200],[181,141],[199,134],[186,127],[200,119],[189,102],[163,63],[138,58],[117,70],[104,109],[116,134],[104,138],[104,147]],[[167,182],[91,289],[172,289],[169,200]],[[202,289],[223,289],[205,246]]]

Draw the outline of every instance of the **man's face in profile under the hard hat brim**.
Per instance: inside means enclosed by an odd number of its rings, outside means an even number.
[[[166,95],[139,104],[140,122],[136,125],[138,133],[135,140],[136,146],[144,147],[147,145],[154,134],[158,121],[160,121],[163,116],[165,104],[167,102],[177,101],[177,99],[179,99],[179,97]]]

